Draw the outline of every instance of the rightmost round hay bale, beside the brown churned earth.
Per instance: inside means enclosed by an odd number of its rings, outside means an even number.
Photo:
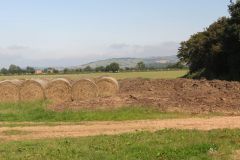
[[[100,97],[109,97],[119,91],[118,81],[112,77],[102,77],[97,82]]]

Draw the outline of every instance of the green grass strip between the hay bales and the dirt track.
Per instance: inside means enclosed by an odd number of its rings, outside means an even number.
[[[56,112],[47,102],[0,104],[0,122],[81,122],[168,119],[190,117],[184,113],[165,113],[153,107],[121,107],[116,109],[81,109]]]

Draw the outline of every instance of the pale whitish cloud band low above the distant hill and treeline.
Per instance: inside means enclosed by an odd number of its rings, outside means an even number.
[[[90,61],[119,57],[156,57],[175,55],[179,44],[165,42],[157,45],[111,44],[107,47],[65,47],[64,49],[33,49],[28,46],[0,47],[0,67],[10,64],[25,66],[74,66]]]

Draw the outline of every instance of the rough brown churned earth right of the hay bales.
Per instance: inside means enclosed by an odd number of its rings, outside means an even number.
[[[138,78],[120,80],[119,84],[120,92],[114,97],[69,102],[51,108],[61,111],[65,108],[143,105],[158,107],[162,111],[240,113],[240,82]]]

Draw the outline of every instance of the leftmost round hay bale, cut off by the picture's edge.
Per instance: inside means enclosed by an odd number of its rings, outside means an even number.
[[[5,80],[0,82],[0,102],[19,101],[20,80]]]

